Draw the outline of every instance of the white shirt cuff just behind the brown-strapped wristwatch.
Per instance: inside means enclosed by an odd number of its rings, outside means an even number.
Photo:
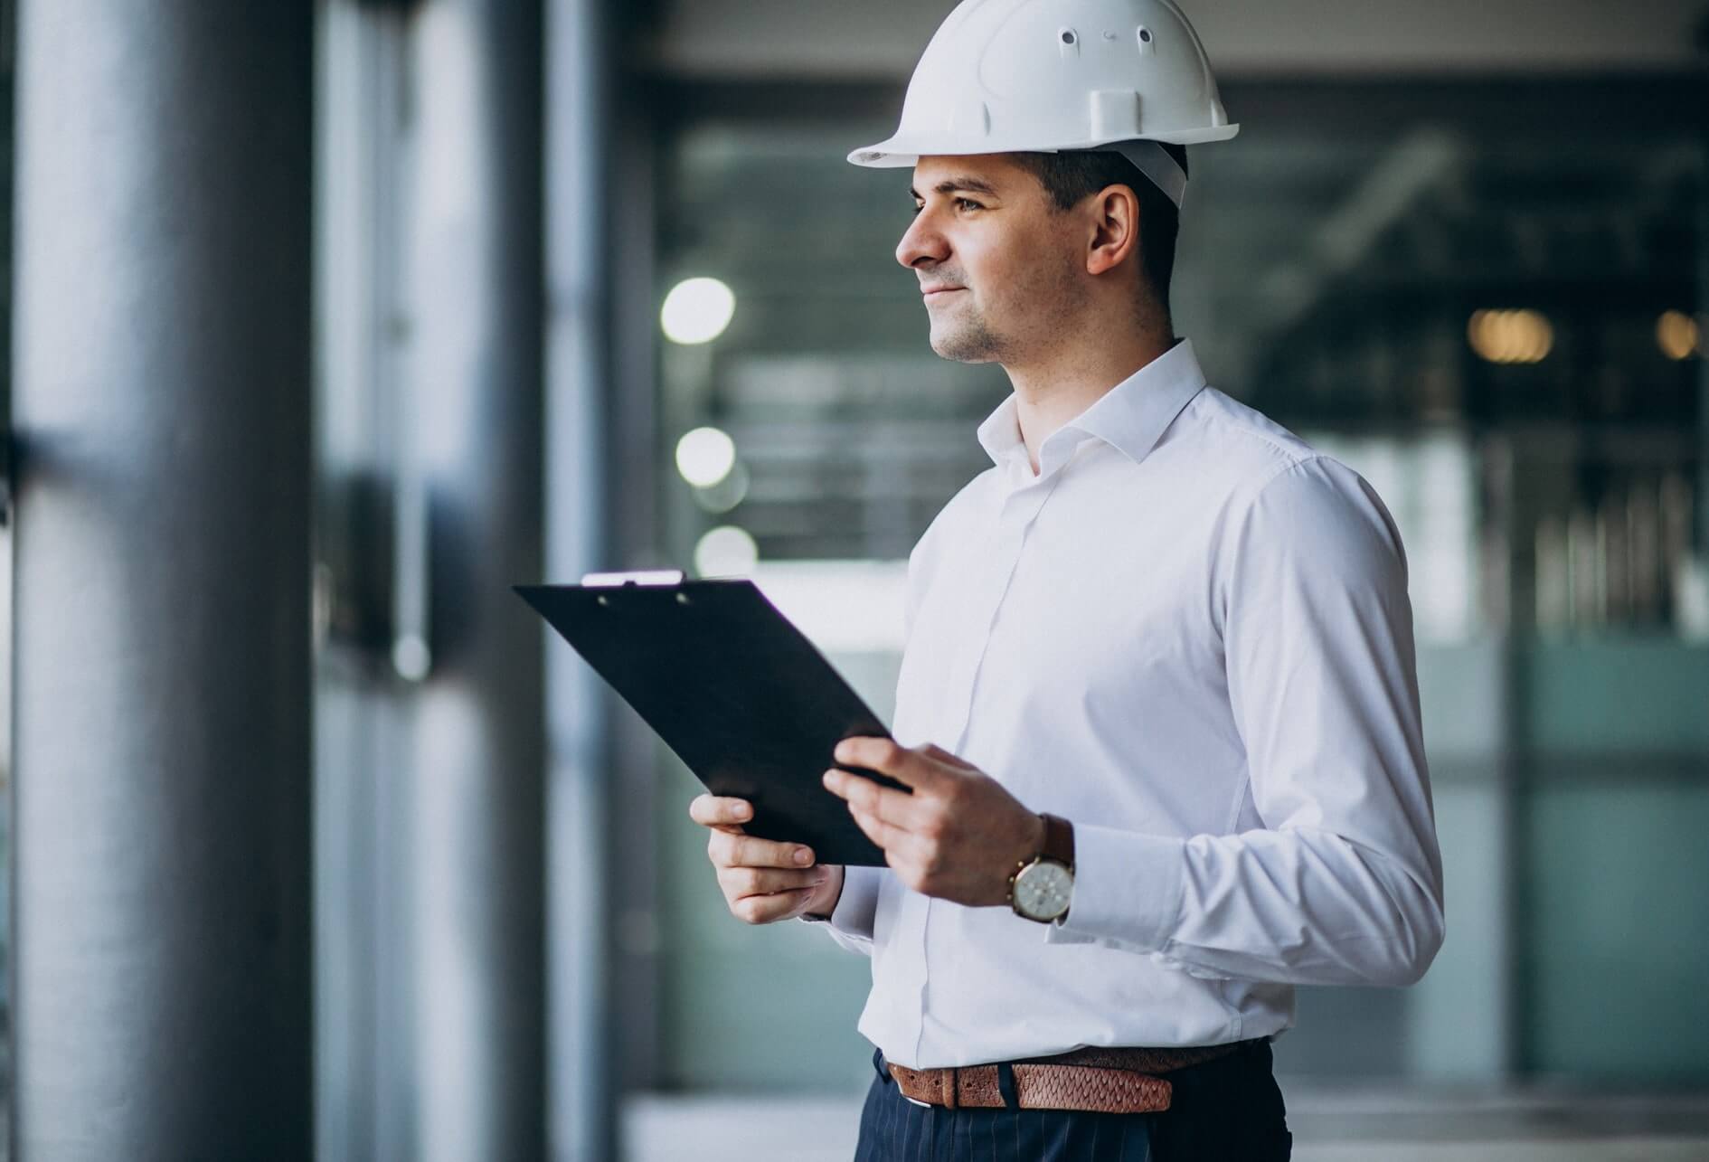
[[[1044,926],[1044,942],[1162,952],[1181,916],[1184,863],[1184,839],[1075,824],[1068,916]]]

